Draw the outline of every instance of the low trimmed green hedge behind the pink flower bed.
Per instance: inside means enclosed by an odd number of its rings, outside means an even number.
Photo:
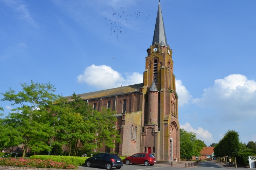
[[[76,156],[54,156],[54,155],[33,155],[29,158],[38,158],[40,160],[53,160],[57,162],[66,162],[68,164],[73,164],[73,165],[84,165],[85,160],[89,157],[76,157]]]

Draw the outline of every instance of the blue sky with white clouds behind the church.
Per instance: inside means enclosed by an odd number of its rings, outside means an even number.
[[[228,129],[242,142],[256,140],[255,6],[161,0],[180,125],[207,145]],[[157,7],[157,0],[0,0],[0,92],[30,80],[55,84],[64,96],[141,83]],[[122,34],[111,35],[114,21]],[[5,114],[13,107],[0,106]]]

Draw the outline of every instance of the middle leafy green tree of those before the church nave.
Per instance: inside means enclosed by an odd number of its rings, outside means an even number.
[[[51,108],[53,115],[60,116],[60,121],[55,121],[57,132],[53,146],[67,145],[68,155],[76,156],[80,146],[92,148],[96,118],[92,109],[75,93],[72,99],[73,101],[68,103],[66,98],[60,97]]]

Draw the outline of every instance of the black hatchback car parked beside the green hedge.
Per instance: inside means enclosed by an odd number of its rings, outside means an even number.
[[[85,161],[86,167],[104,167],[107,169],[120,169],[123,166],[122,159],[116,154],[100,153]]]

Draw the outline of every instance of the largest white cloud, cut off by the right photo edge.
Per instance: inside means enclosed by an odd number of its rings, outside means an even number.
[[[256,82],[240,74],[217,79],[214,86],[204,89],[201,98],[193,99],[198,106],[216,109],[225,121],[241,121],[256,116]]]

